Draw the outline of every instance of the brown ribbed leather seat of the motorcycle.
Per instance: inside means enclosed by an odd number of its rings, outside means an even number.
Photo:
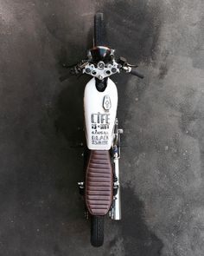
[[[91,150],[86,168],[86,207],[92,215],[105,215],[112,205],[113,174],[110,152]]]

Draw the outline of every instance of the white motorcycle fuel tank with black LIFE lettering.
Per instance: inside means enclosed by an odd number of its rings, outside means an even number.
[[[89,149],[109,150],[118,107],[118,90],[110,78],[104,92],[96,89],[95,78],[87,84],[84,94],[86,143]]]

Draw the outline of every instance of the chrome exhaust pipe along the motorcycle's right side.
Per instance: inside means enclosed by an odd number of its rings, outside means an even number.
[[[118,128],[118,119],[115,121],[114,139],[112,145],[112,161],[113,161],[113,201],[109,216],[112,220],[121,220],[121,198],[119,183],[119,158],[120,158],[120,135],[123,130]]]

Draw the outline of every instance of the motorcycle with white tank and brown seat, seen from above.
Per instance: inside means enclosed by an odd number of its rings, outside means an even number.
[[[86,59],[67,68],[71,68],[71,75],[92,76],[84,92],[85,180],[78,186],[84,198],[86,218],[91,219],[91,244],[102,246],[105,215],[121,220],[118,161],[123,129],[118,128],[118,90],[110,76],[122,72],[139,78],[143,75],[136,65],[124,57],[117,59],[115,49],[106,46],[103,13],[94,16],[93,47],[87,51]],[[67,75],[61,77],[61,81],[65,79]]]

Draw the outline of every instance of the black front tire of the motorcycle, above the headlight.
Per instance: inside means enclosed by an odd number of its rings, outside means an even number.
[[[104,14],[101,12],[94,16],[94,46],[105,46]]]

